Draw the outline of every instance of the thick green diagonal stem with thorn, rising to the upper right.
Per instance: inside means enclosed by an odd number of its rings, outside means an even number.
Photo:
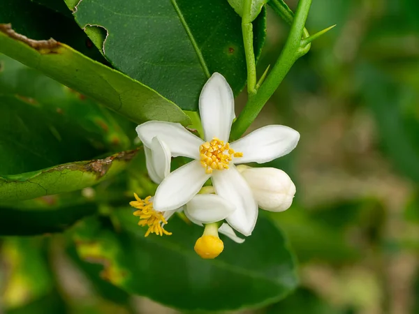
[[[247,100],[244,110],[233,124],[230,140],[237,140],[237,138],[242,136],[247,128],[249,128],[267,100],[274,94],[274,91],[279,84],[281,84],[282,80],[284,80],[284,77],[291,69],[291,66],[293,66],[295,61],[302,56],[299,50],[301,47],[304,24],[307,20],[310,6],[311,0],[300,0],[298,2],[293,24],[291,24],[291,31],[286,40],[284,49],[279,55],[270,74],[267,75],[265,82],[258,89],[257,94],[253,95],[253,97],[249,97]]]

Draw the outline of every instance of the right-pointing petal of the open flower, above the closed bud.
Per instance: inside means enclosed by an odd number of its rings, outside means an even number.
[[[288,126],[264,126],[254,130],[230,144],[235,151],[243,153],[243,157],[235,158],[234,163],[267,163],[295,149],[300,133]]]

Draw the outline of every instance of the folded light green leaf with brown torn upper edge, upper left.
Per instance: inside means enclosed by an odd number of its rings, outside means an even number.
[[[0,24],[0,53],[40,70],[137,123],[163,120],[189,124],[189,117],[170,100],[54,40],[29,40],[10,26]]]

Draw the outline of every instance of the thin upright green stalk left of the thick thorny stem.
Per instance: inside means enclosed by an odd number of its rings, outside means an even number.
[[[256,94],[256,62],[253,52],[253,24],[251,24],[251,0],[244,0],[242,16],[242,35],[247,64],[247,93]]]

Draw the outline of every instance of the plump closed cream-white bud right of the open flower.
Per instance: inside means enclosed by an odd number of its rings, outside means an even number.
[[[284,171],[276,168],[237,166],[249,184],[253,197],[261,209],[285,211],[295,195],[295,185]]]

